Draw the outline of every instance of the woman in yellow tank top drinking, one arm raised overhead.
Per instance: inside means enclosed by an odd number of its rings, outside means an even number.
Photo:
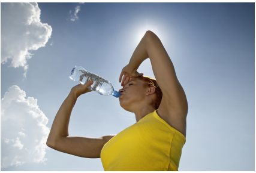
[[[137,69],[149,58],[155,79]],[[157,81],[157,83],[156,83]],[[105,171],[177,171],[185,144],[188,103],[173,64],[158,36],[147,31],[122,69],[120,105],[135,114],[136,123],[117,135],[69,137],[68,123],[77,98],[90,92],[74,86],[62,103],[47,146],[80,157],[101,158]]]

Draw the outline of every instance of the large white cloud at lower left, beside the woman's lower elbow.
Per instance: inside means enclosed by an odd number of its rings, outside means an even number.
[[[1,99],[1,169],[46,160],[48,119],[37,99],[13,85]]]

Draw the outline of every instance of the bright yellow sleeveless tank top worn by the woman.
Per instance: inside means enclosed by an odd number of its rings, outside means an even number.
[[[177,171],[185,141],[155,110],[109,140],[101,162],[105,171]]]

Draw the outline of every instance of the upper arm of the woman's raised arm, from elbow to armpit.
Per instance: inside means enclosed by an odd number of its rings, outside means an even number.
[[[147,54],[152,64],[153,73],[162,91],[162,100],[175,112],[186,114],[188,103],[186,95],[177,79],[173,63],[162,42],[155,33],[147,31]]]

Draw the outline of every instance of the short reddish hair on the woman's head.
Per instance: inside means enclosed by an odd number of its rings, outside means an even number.
[[[161,88],[158,86],[156,79],[150,78],[149,76],[139,76],[138,79],[144,81],[146,86],[153,86],[155,88],[156,100],[153,106],[155,107],[155,109],[158,109],[162,100],[162,91]]]

